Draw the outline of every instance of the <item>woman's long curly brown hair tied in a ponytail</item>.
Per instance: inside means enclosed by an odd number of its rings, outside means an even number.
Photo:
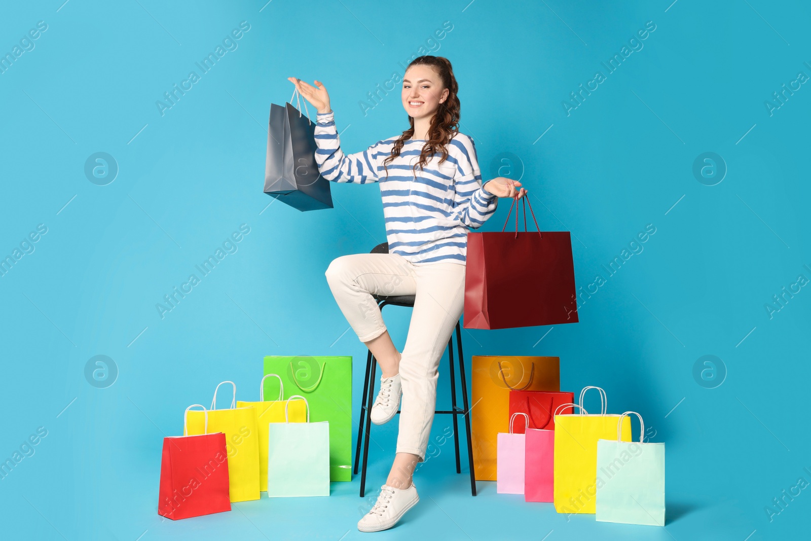
[[[417,165],[419,165],[420,169],[423,169],[428,160],[436,153],[442,155],[440,163],[448,159],[448,149],[446,146],[459,131],[460,117],[460,103],[459,97],[457,96],[459,85],[457,84],[456,77],[453,76],[453,67],[451,67],[450,60],[441,56],[420,56],[414,58],[405,70],[408,71],[409,67],[420,64],[431,66],[436,70],[440,75],[440,79],[442,79],[443,87],[448,88],[448,98],[444,103],[440,103],[440,109],[437,110],[434,117],[431,118],[431,127],[428,128],[428,139],[423,145],[423,151],[419,154],[419,161],[412,167],[412,172],[414,173]],[[391,155],[383,162],[384,168],[386,169],[386,178],[388,178],[388,163],[400,156],[405,141],[409,140],[410,137],[414,135],[414,118],[409,116],[408,120],[410,128],[403,131],[402,135],[397,138],[392,148]]]

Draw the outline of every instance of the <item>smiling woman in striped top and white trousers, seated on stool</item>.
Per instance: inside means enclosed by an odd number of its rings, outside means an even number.
[[[342,255],[325,274],[344,316],[380,364],[372,423],[392,419],[402,397],[392,469],[377,503],[358,522],[361,531],[386,530],[419,500],[412,477],[431,432],[437,368],[465,301],[467,232],[492,216],[498,197],[518,200],[526,190],[501,177],[482,186],[473,140],[458,131],[458,85],[447,58],[421,56],[406,69],[401,98],[410,128],[350,155],[341,151],[324,84],[289,79],[318,110],[320,174],[333,182],[380,182],[389,253]],[[402,353],[371,294],[415,295]]]

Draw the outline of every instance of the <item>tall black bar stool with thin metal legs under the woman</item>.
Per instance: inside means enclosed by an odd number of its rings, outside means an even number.
[[[388,243],[381,243],[372,248],[372,254],[388,254]],[[375,298],[377,301],[377,306],[380,307],[380,311],[383,311],[383,307],[389,304],[393,306],[401,306],[401,307],[414,307],[414,295],[376,295],[373,294],[372,297]],[[462,415],[465,418],[465,430],[467,432],[467,460],[468,466],[470,468],[470,492],[473,496],[476,496],[476,477],[475,472],[473,469],[473,447],[470,443],[470,416],[468,413],[470,409],[468,408],[468,401],[467,401],[467,380],[465,377],[465,357],[462,355],[461,351],[461,327],[459,322],[457,321],[456,326],[456,338],[457,338],[457,346],[459,347],[459,377],[460,377],[460,384],[461,384],[461,400],[462,400],[462,407],[457,407],[457,399],[456,399],[456,376],[454,375],[454,367],[453,367],[453,334],[448,340],[448,360],[450,361],[450,376],[451,376],[451,409],[450,410],[435,410],[435,414],[449,414],[453,415],[453,444],[456,449],[456,459],[457,459],[457,474],[461,474],[461,464],[459,462],[459,430],[458,430],[458,423],[457,423],[457,415]],[[367,458],[369,457],[369,430],[371,429],[371,419],[369,417],[369,411],[371,410],[371,406],[375,403],[374,402],[374,391],[375,391],[375,371],[377,370],[377,363],[375,362],[374,356],[371,354],[371,351],[367,354],[366,359],[366,377],[363,380],[363,402],[360,408],[360,423],[358,424],[358,445],[355,449],[355,463],[354,463],[354,474],[358,474],[358,462],[360,461],[360,446],[361,442],[363,442],[363,466],[361,468],[361,475],[360,475],[360,496],[363,498],[364,494],[366,493],[366,466],[367,466]],[[371,382],[371,384],[370,384]],[[400,410],[397,410],[397,413],[400,413]],[[363,430],[363,422],[364,417],[366,420],[366,430]],[[365,432],[366,439],[363,439]]]

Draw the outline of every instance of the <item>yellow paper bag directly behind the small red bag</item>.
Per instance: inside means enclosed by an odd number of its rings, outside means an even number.
[[[217,389],[221,384],[234,385],[234,397],[228,410],[216,410]],[[214,389],[214,400],[208,410],[208,433],[225,432],[225,450],[228,452],[229,494],[232,502],[259,500],[259,431],[256,425],[256,410],[253,407],[236,407],[237,386],[233,381],[223,381]],[[188,412],[189,436],[206,432],[205,413]]]

